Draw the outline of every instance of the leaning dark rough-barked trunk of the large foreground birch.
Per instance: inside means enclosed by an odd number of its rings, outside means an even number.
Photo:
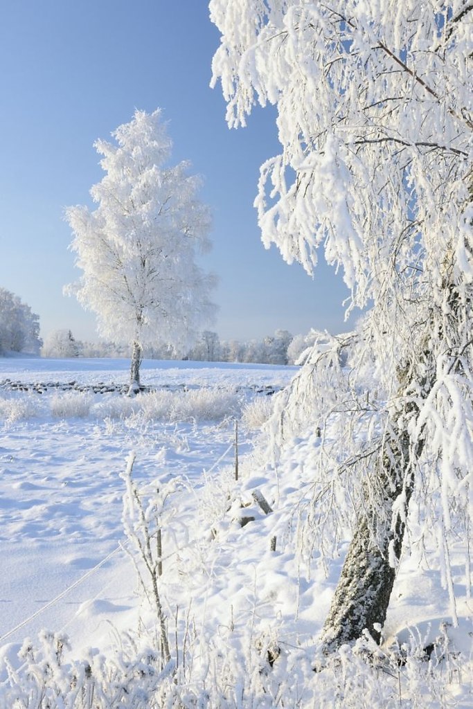
[[[418,419],[420,402],[434,386],[434,359],[433,352],[425,349],[415,364],[398,369],[400,403],[391,413],[377,459],[367,460],[373,472],[364,486],[365,507],[323,626],[326,653],[354,642],[365,630],[376,642],[381,640],[401,558],[415,466],[425,445],[423,433],[412,440],[409,428]]]

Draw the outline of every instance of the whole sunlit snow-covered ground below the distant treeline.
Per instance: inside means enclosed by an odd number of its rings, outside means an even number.
[[[155,607],[140,591],[133,539],[123,527],[128,523],[132,537],[133,529],[142,529],[139,510],[126,497],[132,451],[146,520],[151,527],[159,520],[162,530],[161,600],[174,665],[192,696],[184,703],[179,695],[181,705],[473,706],[473,608],[464,588],[462,540],[452,559],[458,627],[452,627],[438,569],[419,571],[413,560],[401,568],[386,621],[386,638],[398,635],[411,654],[443,637],[437,674],[430,676],[423,661],[406,670],[380,669],[374,681],[349,652],[346,665],[332,674],[313,672],[316,636],[340,564],[325,576],[294,553],[304,500],[311,497],[311,448],[274,467],[251,447],[272,401],[267,391],[285,386],[293,374],[294,368],[269,365],[145,361],[142,381],[156,391],[134,399],[57,386],[41,394],[0,388],[0,706],[13,706],[12,668],[21,673],[28,664],[28,652],[18,659],[23,641],[40,644],[43,629],[67,634],[67,662],[88,658],[93,668],[90,648],[106,657],[120,654],[123,665],[123,654],[153,647]],[[6,379],[56,385],[127,378],[126,360],[0,359],[0,387]],[[33,663],[37,674],[47,674],[43,655]],[[68,676],[67,691],[70,670]],[[147,686],[143,680],[143,691]],[[28,691],[29,699],[14,706],[43,706]],[[69,697],[64,706],[161,705],[151,694],[135,703],[130,689],[125,694],[96,705]]]

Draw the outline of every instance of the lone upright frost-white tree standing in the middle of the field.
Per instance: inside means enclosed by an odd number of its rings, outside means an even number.
[[[189,163],[167,166],[172,143],[159,109],[135,111],[112,135],[115,143],[95,143],[106,172],[90,191],[97,208],[66,212],[83,272],[72,290],[96,313],[101,335],[132,343],[130,391],[137,391],[143,345],[186,350],[213,316],[214,279],[196,264],[210,247],[211,220]]]

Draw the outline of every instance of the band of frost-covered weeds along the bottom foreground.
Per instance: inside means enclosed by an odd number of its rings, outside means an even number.
[[[255,618],[255,620],[257,620]],[[230,615],[210,637],[187,624],[193,657],[174,659],[160,670],[152,633],[125,633],[113,652],[90,650],[65,663],[64,635],[43,632],[26,640],[20,669],[6,661],[0,709],[451,709],[471,706],[462,686],[467,659],[445,645],[430,659],[413,644],[385,654],[370,640],[344,645],[323,657],[314,671],[313,650],[286,644],[274,632],[251,634]],[[172,647],[176,657],[176,648]],[[452,671],[452,663],[455,664]]]

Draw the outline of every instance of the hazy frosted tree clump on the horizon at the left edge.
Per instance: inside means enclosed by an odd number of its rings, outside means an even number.
[[[0,288],[0,354],[30,352],[41,347],[40,318],[18,296]]]

